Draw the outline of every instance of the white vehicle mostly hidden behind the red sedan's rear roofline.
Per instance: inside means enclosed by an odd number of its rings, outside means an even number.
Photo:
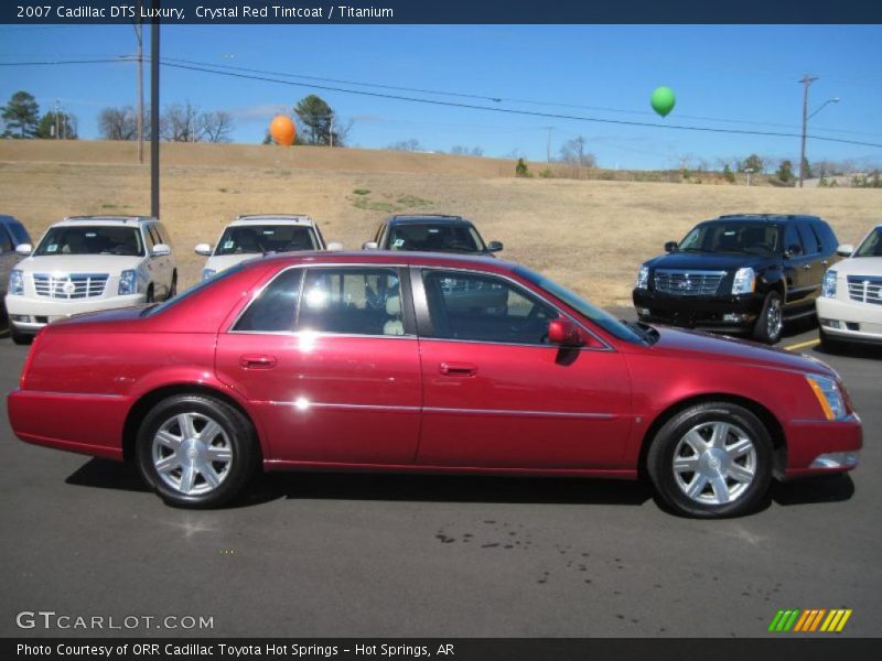
[[[217,245],[196,246],[196,254],[208,257],[202,279],[257,254],[294,252],[298,250],[342,250],[341,243],[325,245],[318,224],[309,216],[260,214],[239,216],[224,228]]]

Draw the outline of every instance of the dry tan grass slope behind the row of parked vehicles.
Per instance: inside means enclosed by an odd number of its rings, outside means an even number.
[[[510,161],[257,145],[163,145],[162,219],[178,248],[184,286],[237,214],[304,213],[326,240],[358,248],[387,210],[461,214],[503,256],[548,274],[602,305],[631,304],[641,262],[698,220],[739,212],[825,217],[842,242],[879,223],[882,191],[772,188],[514,178]],[[0,213],[36,239],[66,215],[143,214],[149,165],[133,144],[0,142]],[[354,191],[369,191],[364,195]],[[358,206],[356,206],[358,205]],[[364,208],[359,208],[364,207]]]

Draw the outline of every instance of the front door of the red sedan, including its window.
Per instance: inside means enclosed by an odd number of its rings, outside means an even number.
[[[547,344],[559,311],[501,275],[412,275],[422,357],[417,462],[483,468],[615,468],[631,429],[621,354]]]

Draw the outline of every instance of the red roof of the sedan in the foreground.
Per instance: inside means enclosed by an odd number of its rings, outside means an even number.
[[[409,250],[347,250],[326,252],[318,250],[301,250],[298,252],[283,252],[267,254],[248,260],[246,268],[261,268],[261,264],[280,262],[286,266],[334,266],[334,264],[376,264],[408,266],[408,267],[440,267],[449,269],[478,269],[496,273],[508,273],[518,267],[515,262],[497,259],[495,257],[451,254],[448,252],[419,252]]]

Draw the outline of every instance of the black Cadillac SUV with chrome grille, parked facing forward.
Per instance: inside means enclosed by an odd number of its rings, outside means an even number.
[[[634,306],[644,322],[745,332],[774,344],[785,318],[815,314],[837,246],[817,216],[720,216],[641,267]]]

